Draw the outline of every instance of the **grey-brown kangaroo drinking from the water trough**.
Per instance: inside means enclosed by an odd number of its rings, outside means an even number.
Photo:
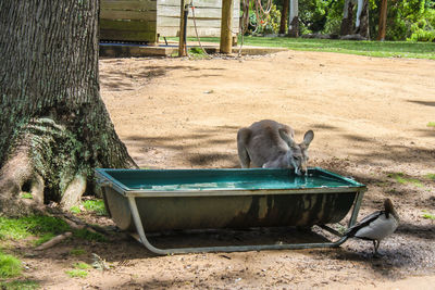
[[[297,175],[306,174],[308,147],[314,133],[308,130],[299,144],[294,141],[294,136],[289,126],[272,119],[239,129],[237,151],[241,167],[294,168]]]

